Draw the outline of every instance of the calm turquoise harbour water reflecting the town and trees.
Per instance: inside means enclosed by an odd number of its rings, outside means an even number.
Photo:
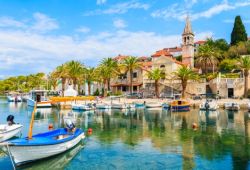
[[[24,125],[27,136],[32,108],[0,98],[0,123],[9,114]],[[34,134],[48,125],[61,127],[64,118],[92,128],[72,150],[18,169],[250,169],[250,117],[247,111],[171,113],[167,110],[71,112],[38,109]],[[199,128],[194,130],[192,124]],[[12,169],[0,152],[0,169]]]

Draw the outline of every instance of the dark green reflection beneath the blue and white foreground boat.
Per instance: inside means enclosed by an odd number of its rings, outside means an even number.
[[[43,159],[40,161],[36,161],[34,163],[30,163],[27,165],[20,166],[20,169],[26,170],[44,170],[44,169],[64,169],[66,165],[84,148],[84,144],[80,142],[71,150],[64,152],[62,154],[53,156],[51,158]]]

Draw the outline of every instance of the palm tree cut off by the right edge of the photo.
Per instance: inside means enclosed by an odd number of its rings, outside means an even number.
[[[250,71],[250,57],[241,57],[239,61],[239,68],[243,71],[245,77],[244,97],[248,97],[248,77]]]

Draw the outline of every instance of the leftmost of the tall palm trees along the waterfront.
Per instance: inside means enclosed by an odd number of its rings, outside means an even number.
[[[62,82],[62,95],[64,95],[65,83],[66,83],[67,78],[69,78],[69,72],[68,72],[67,65],[62,64],[60,66],[57,66],[54,74],[58,79],[61,79],[61,82]]]

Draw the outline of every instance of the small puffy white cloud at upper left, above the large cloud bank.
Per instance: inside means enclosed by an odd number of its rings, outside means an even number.
[[[33,14],[33,17],[35,19],[35,24],[32,26],[33,30],[46,32],[59,28],[55,19],[50,18],[43,13],[36,12]]]

